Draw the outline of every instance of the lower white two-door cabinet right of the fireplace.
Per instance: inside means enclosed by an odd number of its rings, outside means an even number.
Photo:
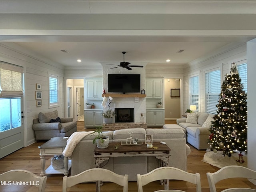
[[[164,125],[164,109],[146,110],[147,126],[163,126]]]

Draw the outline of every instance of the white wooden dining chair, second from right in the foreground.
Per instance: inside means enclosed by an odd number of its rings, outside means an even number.
[[[157,180],[181,180],[196,184],[196,192],[201,192],[199,173],[189,173],[174,167],[159,167],[147,174],[137,174],[138,192],[143,192],[143,186]],[[168,183],[168,182],[167,182]],[[168,185],[169,188],[169,185]],[[164,189],[155,192],[185,192],[175,189]]]

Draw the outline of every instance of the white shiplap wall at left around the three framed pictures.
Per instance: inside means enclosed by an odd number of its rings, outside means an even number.
[[[64,116],[64,68],[34,52],[26,50],[15,43],[0,43],[0,60],[24,67],[24,146],[35,142],[33,119],[39,112],[58,110],[59,116]],[[48,72],[59,77],[59,101],[57,108],[48,108]],[[42,85],[42,106],[36,106],[36,83]]]

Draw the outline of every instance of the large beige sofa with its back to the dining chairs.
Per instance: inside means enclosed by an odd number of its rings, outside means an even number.
[[[145,141],[145,134],[153,135],[154,142],[164,141],[170,147],[169,166],[187,170],[187,156],[190,148],[186,144],[184,132],[181,129],[158,129],[158,128],[130,128],[104,132],[110,137],[110,142],[120,142],[129,137],[128,132],[133,134],[133,138]],[[93,157],[96,144],[92,144],[94,136],[85,136],[74,149],[72,154],[71,174],[76,175],[84,170],[95,168]],[[144,144],[146,147],[146,144]],[[105,162],[104,162],[105,163]],[[155,157],[114,157],[103,163],[103,168],[114,171],[117,174],[128,174],[130,181],[136,181],[137,174],[145,174],[159,167],[160,160]]]

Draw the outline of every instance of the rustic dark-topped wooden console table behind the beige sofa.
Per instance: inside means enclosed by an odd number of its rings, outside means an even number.
[[[114,149],[118,146],[117,149]],[[102,163],[110,157],[132,157],[132,156],[155,156],[161,160],[161,167],[168,166],[170,157],[170,148],[160,142],[153,142],[157,149],[148,149],[146,144],[142,145],[121,145],[120,143],[109,143],[108,148],[94,149],[94,158],[96,168],[101,168]],[[168,180],[164,180],[164,189],[169,189]],[[100,182],[96,182],[96,191],[100,191]]]

